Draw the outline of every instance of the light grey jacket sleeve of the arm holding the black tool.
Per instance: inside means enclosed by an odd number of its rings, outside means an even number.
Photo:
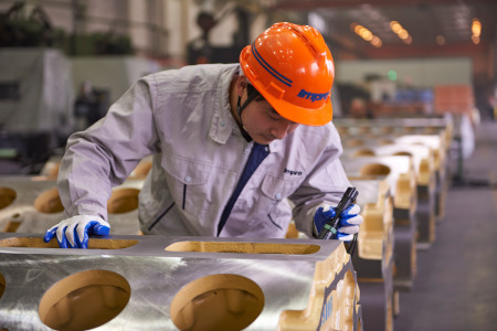
[[[314,236],[314,214],[324,204],[338,205],[350,181],[340,161],[342,147],[335,126],[327,135],[326,148],[300,186],[289,196],[297,228]]]

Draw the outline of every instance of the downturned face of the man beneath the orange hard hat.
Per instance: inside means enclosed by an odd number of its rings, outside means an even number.
[[[246,89],[242,96],[242,105],[246,99]],[[252,100],[242,111],[245,130],[255,142],[267,145],[275,139],[284,139],[292,134],[298,124],[282,117],[266,100]]]

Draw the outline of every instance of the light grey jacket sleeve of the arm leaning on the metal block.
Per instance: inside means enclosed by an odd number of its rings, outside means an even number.
[[[148,79],[152,82],[154,76]],[[112,188],[123,183],[144,157],[157,151],[156,96],[155,85],[144,78],[104,118],[68,138],[57,179],[66,217],[84,214],[107,220]]]

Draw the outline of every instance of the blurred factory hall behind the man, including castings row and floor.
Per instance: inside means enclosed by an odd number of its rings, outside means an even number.
[[[139,77],[237,62],[278,21],[322,33],[346,170],[363,192],[383,194],[384,181],[393,192],[393,221],[384,216],[383,250],[372,258],[381,266],[361,255],[373,232],[366,216],[353,260],[363,330],[497,330],[496,0],[0,0],[0,233],[60,221],[56,189],[50,215],[30,199],[54,188],[67,137]],[[371,160],[389,172],[356,171]],[[135,200],[144,174],[124,184]],[[134,209],[110,222],[136,221]],[[402,239],[398,231],[413,227]]]

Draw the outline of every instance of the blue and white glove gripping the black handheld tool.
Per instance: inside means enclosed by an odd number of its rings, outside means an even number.
[[[350,242],[353,235],[359,232],[359,225],[364,221],[359,212],[360,206],[357,204],[351,204],[340,214],[340,221],[338,224],[337,238],[342,242]],[[335,209],[328,204],[324,204],[318,207],[314,214],[314,225],[316,226],[316,232],[319,234],[325,226],[326,222],[335,217]]]

